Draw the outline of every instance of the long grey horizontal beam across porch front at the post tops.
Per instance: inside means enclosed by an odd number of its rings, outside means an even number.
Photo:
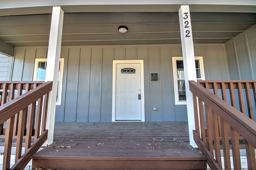
[[[23,2],[23,1],[20,1]],[[256,2],[256,1],[255,1]],[[178,12],[179,4],[149,5],[62,5],[65,13],[78,12]],[[190,12],[246,12],[256,13],[255,5],[190,4]],[[1,7],[0,16],[51,14],[52,6]]]

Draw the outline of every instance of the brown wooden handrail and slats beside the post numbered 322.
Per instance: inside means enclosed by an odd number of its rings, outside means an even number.
[[[240,147],[239,147],[239,135],[245,139],[246,155],[248,160],[248,169],[256,169],[256,160],[254,148],[256,148],[256,123],[247,117],[244,113],[238,111],[235,107],[229,105],[226,102],[226,85],[228,81],[214,81],[214,93],[211,93],[205,87],[202,87],[200,83],[195,81],[189,81],[190,91],[193,93],[194,99],[194,111],[195,111],[195,123],[196,130],[194,131],[194,140],[198,144],[199,149],[206,155],[208,164],[212,169],[222,169],[221,154],[220,154],[220,141],[222,142],[223,154],[224,154],[224,166],[225,169],[230,169],[230,142],[232,144],[233,162],[234,168],[241,169],[240,163]],[[242,90],[241,83],[244,83],[244,88],[248,91],[249,81],[232,81],[239,86],[238,93]],[[212,81],[207,81],[212,83]],[[217,83],[223,86],[222,97],[223,100],[217,96]],[[255,91],[255,81],[250,81],[252,88]],[[231,85],[232,86],[232,85]],[[208,87],[207,87],[208,88]],[[233,87],[231,87],[233,89]],[[240,91],[240,92],[239,92]],[[231,95],[233,92],[231,91]],[[247,96],[248,94],[246,94]],[[231,96],[233,100],[234,96]],[[242,106],[242,95],[239,95],[240,107]],[[249,99],[249,97],[248,97]],[[234,102],[234,101],[232,101]],[[248,101],[247,103],[250,102]],[[205,107],[205,109],[203,109]],[[205,125],[207,126],[206,141]],[[221,127],[221,128],[219,128]],[[230,130],[230,133],[228,131]],[[221,138],[220,138],[221,133]],[[214,143],[214,145],[213,145]],[[215,160],[213,157],[213,150],[215,152]]]

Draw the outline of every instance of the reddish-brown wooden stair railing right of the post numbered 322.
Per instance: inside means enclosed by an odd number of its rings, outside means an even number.
[[[256,81],[190,81],[194,99],[194,140],[211,169],[241,169],[240,148],[246,148],[248,170],[256,169]],[[242,142],[239,143],[239,142]],[[215,158],[214,158],[215,156]]]

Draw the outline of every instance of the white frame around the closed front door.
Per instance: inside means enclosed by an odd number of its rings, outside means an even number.
[[[113,81],[112,81],[112,122],[116,122],[116,64],[140,64],[140,93],[141,93],[141,121],[145,121],[145,99],[144,99],[144,63],[143,60],[113,60]],[[122,121],[117,121],[122,122]],[[131,121],[125,121],[131,122]],[[132,121],[135,122],[135,121]]]

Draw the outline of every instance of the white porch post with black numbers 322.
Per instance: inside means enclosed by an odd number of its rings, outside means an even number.
[[[196,142],[194,141],[194,138],[193,138],[193,130],[195,129],[193,95],[192,95],[192,92],[189,90],[189,84],[188,84],[189,80],[196,81],[196,66],[195,66],[191,21],[190,21],[190,11],[189,11],[188,5],[180,6],[179,19],[180,19],[180,36],[181,36],[181,44],[182,44],[183,65],[184,65],[184,74],[185,74],[189,140],[190,140],[190,145],[192,145],[193,147],[196,147]]]

